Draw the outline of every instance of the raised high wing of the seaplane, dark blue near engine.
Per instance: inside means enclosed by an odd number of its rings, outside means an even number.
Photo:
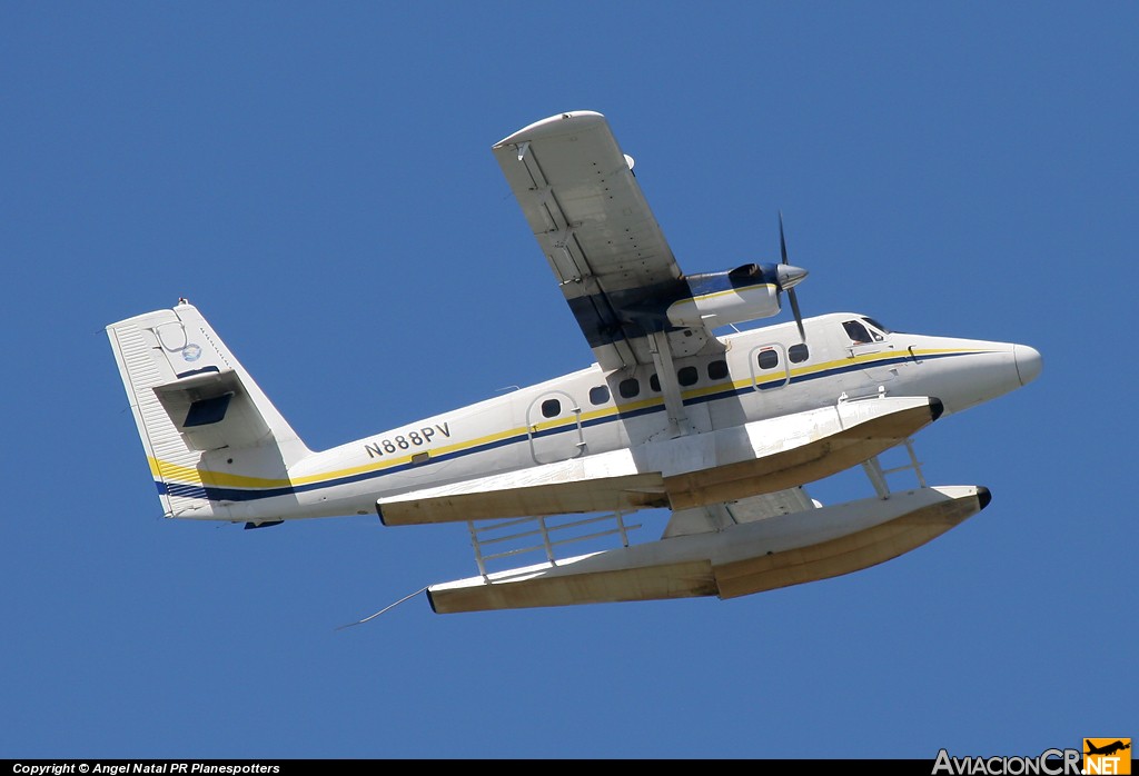
[[[722,349],[670,324],[690,290],[605,116],[558,114],[493,152],[603,369],[652,364],[665,344],[671,358]]]

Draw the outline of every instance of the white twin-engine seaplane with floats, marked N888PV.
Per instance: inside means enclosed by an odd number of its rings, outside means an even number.
[[[492,152],[596,362],[312,451],[189,302],[118,321],[107,335],[165,517],[466,523],[477,573],[421,591],[454,613],[834,578],[989,504],[980,485],[927,485],[912,437],[1033,381],[1038,350],[803,317],[808,271],[781,214],[773,261],[682,272],[599,113],[544,118]],[[765,325],[785,305],[793,320]],[[859,468],[865,497],[808,494]]]

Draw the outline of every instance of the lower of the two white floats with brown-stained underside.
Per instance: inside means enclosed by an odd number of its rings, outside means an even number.
[[[732,526],[718,533],[432,585],[439,613],[751,593],[838,577],[944,534],[989,503],[986,488],[942,486]]]

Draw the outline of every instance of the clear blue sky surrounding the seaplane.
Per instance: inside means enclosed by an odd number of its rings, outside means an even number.
[[[923,758],[1139,735],[1134,3],[0,5],[0,757]],[[104,327],[186,296],[313,448],[592,358],[490,147],[609,117],[681,265],[1041,350],[992,504],[847,577],[437,616],[460,526],[161,517]],[[855,495],[862,495],[861,493]]]

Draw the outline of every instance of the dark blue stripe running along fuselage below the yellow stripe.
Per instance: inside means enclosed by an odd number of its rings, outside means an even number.
[[[980,353],[978,350],[970,350],[967,353],[940,353],[935,355],[923,355],[923,361],[934,361],[936,358],[949,358],[952,356],[960,355],[974,355]],[[894,358],[883,358],[875,362],[862,362],[849,364],[846,366],[836,366],[834,369],[823,370],[821,372],[811,372],[808,374],[798,374],[793,377],[789,381],[787,380],[786,372],[779,372],[779,377],[767,380],[764,382],[754,382],[747,385],[743,388],[727,388],[722,391],[716,391],[714,394],[707,394],[704,396],[697,396],[694,398],[685,399],[685,406],[694,406],[697,404],[704,404],[706,402],[716,402],[724,398],[731,398],[734,396],[744,396],[746,394],[754,393],[756,388],[760,390],[765,390],[770,388],[776,388],[782,385],[809,382],[811,380],[819,380],[822,378],[835,377],[837,374],[843,374],[846,372],[857,372],[865,370],[868,366],[886,366],[890,364],[901,364],[910,361],[911,356],[898,356]],[[603,423],[612,423],[621,420],[629,420],[632,418],[642,418],[656,412],[664,412],[665,407],[663,404],[657,404],[648,407],[640,407],[638,410],[622,411],[617,407],[617,413],[613,415],[606,415],[604,418],[593,418],[591,420],[582,421],[582,428],[592,428],[596,426],[601,426]],[[546,429],[539,431],[534,435],[536,438],[543,438],[554,436],[556,434],[564,434],[567,431],[576,430],[576,424],[562,426],[555,429]],[[498,439],[495,441],[487,441],[482,445],[476,445],[474,447],[468,447],[461,451],[453,451],[451,453],[444,453],[442,455],[432,456],[428,464],[416,464],[416,463],[401,463],[399,465],[391,467],[388,469],[383,469],[379,471],[368,471],[361,472],[359,474],[351,474],[347,477],[338,477],[331,480],[322,480],[320,482],[309,482],[306,485],[287,485],[278,488],[260,488],[260,489],[245,489],[245,488],[222,488],[213,486],[199,486],[199,485],[186,485],[181,482],[173,482],[169,487],[165,482],[155,480],[155,485],[158,487],[159,494],[170,494],[172,496],[183,496],[187,498],[210,498],[211,501],[232,501],[232,502],[244,502],[244,501],[257,501],[260,498],[272,498],[274,496],[288,496],[297,493],[308,493],[310,490],[319,490],[322,488],[336,487],[339,485],[350,485],[352,482],[363,482],[367,480],[376,479],[379,477],[386,477],[387,474],[393,474],[401,471],[407,471],[409,469],[417,469],[423,465],[429,465],[431,463],[442,463],[444,461],[453,461],[466,455],[476,455],[478,453],[485,453],[487,451],[497,449],[499,447],[506,447],[507,445],[515,445],[519,443],[528,443],[530,435],[516,434],[513,437],[506,437],[505,439]]]

